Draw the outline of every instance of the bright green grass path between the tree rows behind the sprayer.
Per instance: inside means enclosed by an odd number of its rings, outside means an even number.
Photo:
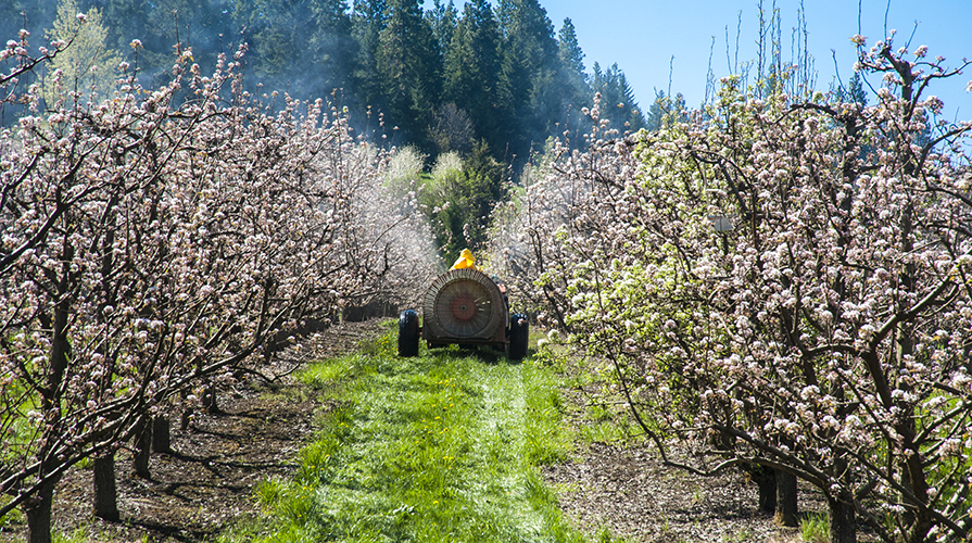
[[[457,348],[399,358],[395,333],[302,372],[337,407],[295,478],[261,485],[255,539],[584,541],[540,478],[572,439],[556,374]]]

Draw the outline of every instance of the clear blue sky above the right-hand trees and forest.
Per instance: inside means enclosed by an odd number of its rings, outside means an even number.
[[[735,55],[739,26],[740,62],[756,58],[759,10],[757,0],[540,0],[556,29],[570,17],[585,53],[590,71],[595,61],[603,66],[617,62],[624,72],[642,108],[647,108],[655,89],[668,91],[672,55],[671,90],[682,92],[690,106],[705,96],[709,53],[716,77],[729,73],[727,26],[731,54]],[[818,89],[825,89],[834,76],[836,51],[841,77],[846,83],[856,60],[849,38],[858,34],[860,2],[861,35],[873,45],[887,28],[897,29],[895,45],[911,40],[910,50],[929,46],[929,56],[942,55],[956,67],[963,56],[972,59],[972,0],[804,0],[808,49],[819,73]],[[462,2],[456,1],[456,4]],[[777,0],[783,27],[783,59],[790,59],[792,34],[797,26],[799,0]],[[763,0],[772,9],[772,0]],[[742,24],[740,26],[740,14]],[[715,48],[712,49],[712,37]],[[929,93],[946,102],[949,117],[972,119],[972,93],[965,85],[972,67],[957,78],[933,86]]]

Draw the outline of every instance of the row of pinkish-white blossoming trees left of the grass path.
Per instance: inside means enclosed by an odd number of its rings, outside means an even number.
[[[26,76],[49,58],[22,46]],[[55,72],[55,103],[15,97],[30,114],[0,134],[0,515],[22,507],[31,541],[77,462],[97,458],[96,513],[117,518],[113,454],[151,417],[258,370],[344,300],[427,283],[430,236],[414,192],[383,190],[386,153],[319,100],[242,92],[243,50],[211,76],[178,50],[159,89],[123,63],[113,89]]]

